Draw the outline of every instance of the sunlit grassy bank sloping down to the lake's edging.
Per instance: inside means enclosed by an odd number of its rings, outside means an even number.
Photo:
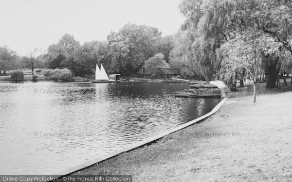
[[[218,113],[72,175],[134,182],[292,181],[292,92],[228,99]]]

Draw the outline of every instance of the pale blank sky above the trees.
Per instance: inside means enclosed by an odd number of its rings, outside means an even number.
[[[176,33],[181,0],[0,0],[0,46],[20,56],[47,49],[70,33],[81,44],[106,40],[128,22]],[[36,53],[37,55],[40,52]]]

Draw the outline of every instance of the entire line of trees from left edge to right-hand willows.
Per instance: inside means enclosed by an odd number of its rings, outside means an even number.
[[[108,73],[129,76],[146,61],[154,73],[168,63],[183,78],[219,77],[233,90],[237,81],[249,78],[256,84],[262,75],[274,88],[279,73],[291,72],[290,1],[182,0],[179,9],[186,19],[174,35],[162,37],[157,28],[128,23],[105,42],[80,45],[66,33],[37,58],[16,58],[14,51],[1,48],[0,69],[22,60],[15,66],[69,68],[85,76],[102,63]]]

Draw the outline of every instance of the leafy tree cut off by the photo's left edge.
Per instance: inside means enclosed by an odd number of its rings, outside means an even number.
[[[17,57],[15,51],[6,46],[0,47],[0,73],[3,70],[3,73],[6,74],[6,70],[13,68]]]

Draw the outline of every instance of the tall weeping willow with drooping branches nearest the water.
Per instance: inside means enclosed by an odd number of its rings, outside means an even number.
[[[219,69],[216,49],[224,43],[224,32],[234,7],[233,0],[183,0],[180,10],[186,17],[183,29],[189,31],[193,40],[191,50],[195,70],[207,82]]]

